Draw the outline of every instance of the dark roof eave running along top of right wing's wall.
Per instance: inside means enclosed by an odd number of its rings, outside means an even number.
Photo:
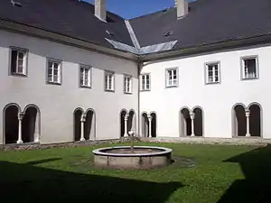
[[[210,51],[222,51],[234,49],[239,47],[252,46],[257,44],[271,42],[271,34],[262,34],[254,37],[242,38],[238,40],[228,40],[224,42],[215,42],[209,44],[201,44],[198,46],[185,47],[172,51],[160,51],[140,56],[142,62],[149,62],[154,60],[166,60],[176,57],[188,56],[199,53],[206,53]]]

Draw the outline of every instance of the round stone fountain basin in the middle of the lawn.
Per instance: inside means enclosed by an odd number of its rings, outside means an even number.
[[[152,146],[107,147],[93,151],[94,164],[114,169],[154,169],[171,164],[172,149]]]

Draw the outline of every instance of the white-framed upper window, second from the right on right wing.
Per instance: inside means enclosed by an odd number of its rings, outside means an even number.
[[[207,63],[206,64],[206,83],[220,83],[220,63]]]

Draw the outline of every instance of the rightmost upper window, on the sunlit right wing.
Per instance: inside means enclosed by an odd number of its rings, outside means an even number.
[[[257,78],[257,57],[242,58],[242,78]]]

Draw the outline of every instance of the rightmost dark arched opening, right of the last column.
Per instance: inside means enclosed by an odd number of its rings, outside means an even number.
[[[249,133],[251,136],[261,136],[261,107],[257,104],[249,106]]]

